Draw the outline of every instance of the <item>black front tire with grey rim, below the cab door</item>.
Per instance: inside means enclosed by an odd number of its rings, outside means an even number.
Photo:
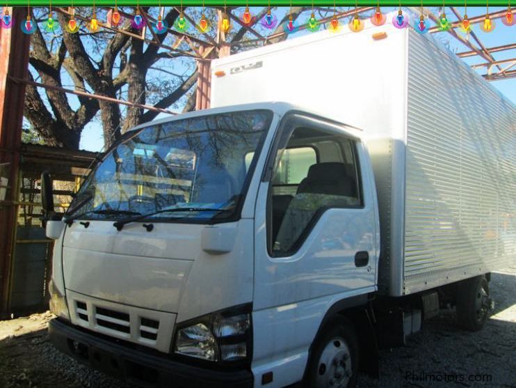
[[[357,385],[358,349],[353,325],[344,318],[332,318],[312,343],[305,387],[354,388]],[[330,380],[337,383],[330,385]]]

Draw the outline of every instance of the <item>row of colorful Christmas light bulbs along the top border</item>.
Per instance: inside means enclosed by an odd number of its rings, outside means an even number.
[[[120,1],[121,2],[121,1]],[[108,24],[110,24],[112,27],[118,27],[122,26],[122,23],[124,22],[124,18],[120,15],[120,12],[118,11],[118,5],[119,3],[117,0],[115,0],[115,8],[113,10],[110,10],[107,14]],[[142,1],[143,2],[143,1]],[[185,1],[186,2],[186,1]],[[228,1],[229,2],[229,1]],[[321,24],[316,20],[315,13],[314,13],[314,0],[312,0],[312,13],[308,20],[304,23],[305,28],[307,31],[318,31]],[[470,3],[472,0],[470,1]],[[33,3],[36,3],[36,1],[33,1]],[[40,3],[38,1],[37,3]],[[54,2],[55,3],[55,2]],[[98,1],[97,1],[98,3]],[[340,3],[340,2],[339,2]],[[364,20],[359,17],[359,14],[357,12],[358,9],[358,0],[355,0],[355,13],[353,17],[350,19],[350,22],[348,23],[348,29],[353,32],[360,32],[362,29],[364,29]],[[158,1],[157,4],[161,8],[161,0]],[[52,3],[51,0],[49,0],[48,3],[49,6],[49,16],[46,22],[42,22],[40,24],[40,28],[44,29],[47,32],[54,32],[59,29],[58,22],[54,20],[53,13],[52,13]],[[428,19],[425,18],[423,7],[424,2],[421,0],[421,13],[419,16],[419,19],[414,20],[412,24],[410,24],[410,16],[403,13],[403,10],[401,9],[402,3],[401,0],[398,4],[398,13],[392,17],[392,24],[397,29],[405,29],[408,28],[408,26],[412,26],[412,28],[417,31],[418,33],[426,33],[428,32],[428,29],[430,28],[430,23],[428,22]],[[451,24],[446,19],[446,13],[444,12],[444,1],[442,3],[442,14],[440,15],[440,18],[438,20],[437,26],[440,29],[440,31],[448,31],[451,28]],[[469,22],[469,19],[467,17],[467,3],[465,2],[465,13],[464,17],[462,18],[462,22],[460,24],[460,28],[463,32],[469,32],[471,30],[471,24]],[[489,15],[489,0],[485,3],[486,7],[486,15],[485,19],[483,20],[483,23],[481,23],[481,30],[484,32],[491,32],[494,30],[494,27],[496,24],[493,20],[490,19]],[[20,29],[26,33],[26,34],[32,34],[36,31],[38,28],[38,23],[36,23],[33,20],[33,17],[31,17],[31,3],[30,0],[26,3],[27,8],[27,16],[26,20],[23,20],[20,24]],[[65,26],[63,28],[68,33],[76,33],[79,31],[79,22],[75,19],[75,7],[73,1],[71,2],[71,11],[70,11],[70,18]],[[209,29],[211,29],[211,22],[207,20],[206,16],[204,15],[204,0],[202,0],[202,12],[200,20],[197,24],[195,24],[195,28],[200,31],[201,33],[207,33]],[[283,30],[285,33],[294,33],[298,31],[299,24],[297,20],[293,20],[292,17],[292,1],[289,1],[289,18],[286,22],[283,24]],[[339,24],[339,20],[335,16],[337,13],[337,6],[334,1],[333,3],[334,8],[334,17],[332,20],[330,20],[328,24],[328,29],[333,32],[337,32],[341,30],[341,26]],[[126,19],[129,19],[129,22],[131,24],[131,27],[136,30],[140,30],[145,26],[147,23],[145,21],[145,17],[140,13],[140,1],[136,0],[136,6],[134,8],[134,14],[131,16],[126,16]],[[249,9],[249,0],[245,1],[245,10],[242,13],[241,17],[241,23],[245,25],[249,25],[252,22],[255,21],[255,17],[253,17],[252,13]],[[387,22],[387,15],[382,13],[382,10],[380,8],[380,1],[377,0],[376,2],[376,9],[373,15],[370,17],[371,23],[376,26],[381,26],[382,24],[385,24]],[[264,26],[266,29],[275,29],[277,26],[277,17],[275,17],[271,11],[271,2],[268,1],[268,9],[264,17],[260,20],[261,25]],[[501,22],[505,24],[506,26],[514,26],[516,24],[515,17],[513,15],[513,10],[510,8],[510,0],[508,1],[508,8],[507,12],[503,17],[501,17]],[[0,27],[3,29],[10,29],[13,25],[15,25],[15,20],[13,20],[13,17],[10,15],[8,7],[3,8],[3,13],[1,14],[1,22]],[[156,34],[162,34],[166,33],[168,31],[168,24],[166,23],[166,20],[163,20],[163,17],[161,13],[157,17],[157,19],[151,24],[152,25],[152,31]],[[220,31],[223,31],[224,33],[229,33],[232,29],[232,23],[229,20],[228,14],[227,14],[227,4],[226,1],[223,3],[223,14],[222,18],[220,20],[220,23],[218,24]],[[179,17],[175,20],[173,28],[178,32],[185,32],[188,30],[190,25],[188,24],[186,18],[183,14],[183,1],[180,5],[180,13]],[[97,20],[97,13],[95,8],[95,0],[92,0],[92,16],[90,17],[90,20],[87,22],[87,28],[90,32],[96,32],[99,31],[100,25],[99,20]]]

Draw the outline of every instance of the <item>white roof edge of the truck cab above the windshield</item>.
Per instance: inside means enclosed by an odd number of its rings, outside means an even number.
[[[200,111],[191,111],[184,114],[177,114],[176,116],[161,118],[159,120],[149,121],[147,123],[143,123],[140,125],[137,125],[136,127],[131,128],[129,131],[132,132],[134,130],[140,130],[143,127],[149,127],[151,125],[158,125],[163,123],[170,123],[172,121],[178,121],[183,120],[184,118],[193,118],[193,117],[200,117],[200,116],[208,116],[211,114],[220,114],[224,112],[232,112],[232,111],[248,111],[248,110],[256,110],[256,109],[268,109],[270,111],[273,111],[274,114],[277,114],[278,116],[283,116],[288,111],[302,111],[303,113],[317,116],[324,118],[325,116],[318,111],[315,111],[314,109],[309,109],[306,107],[301,107],[298,104],[291,104],[289,102],[280,102],[280,101],[271,101],[271,102],[253,102],[250,104],[238,104],[238,105],[229,105],[226,107],[218,107],[218,108],[211,108],[211,109],[202,109]],[[328,120],[327,118],[325,118]],[[346,123],[341,123],[339,121],[334,121],[334,123],[345,125],[348,127],[347,129],[350,130],[350,132],[360,131],[360,128],[353,127],[353,125],[349,125]],[[357,135],[357,133],[353,133]]]

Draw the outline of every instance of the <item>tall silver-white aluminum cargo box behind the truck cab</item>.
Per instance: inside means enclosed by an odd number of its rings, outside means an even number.
[[[379,32],[386,38],[373,40]],[[516,262],[515,105],[432,36],[368,22],[360,33],[323,31],[218,59],[211,79],[212,107],[286,101],[364,131],[381,293]]]

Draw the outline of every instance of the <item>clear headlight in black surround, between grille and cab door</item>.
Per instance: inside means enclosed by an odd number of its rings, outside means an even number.
[[[251,314],[222,311],[177,330],[174,352],[215,362],[241,362],[251,355]]]

